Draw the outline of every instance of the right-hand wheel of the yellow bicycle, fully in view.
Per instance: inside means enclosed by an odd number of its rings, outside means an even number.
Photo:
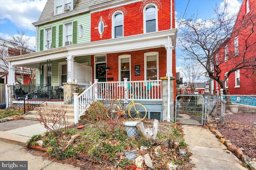
[[[142,104],[135,103],[128,109],[128,115],[135,121],[142,121],[147,115],[147,109]]]

